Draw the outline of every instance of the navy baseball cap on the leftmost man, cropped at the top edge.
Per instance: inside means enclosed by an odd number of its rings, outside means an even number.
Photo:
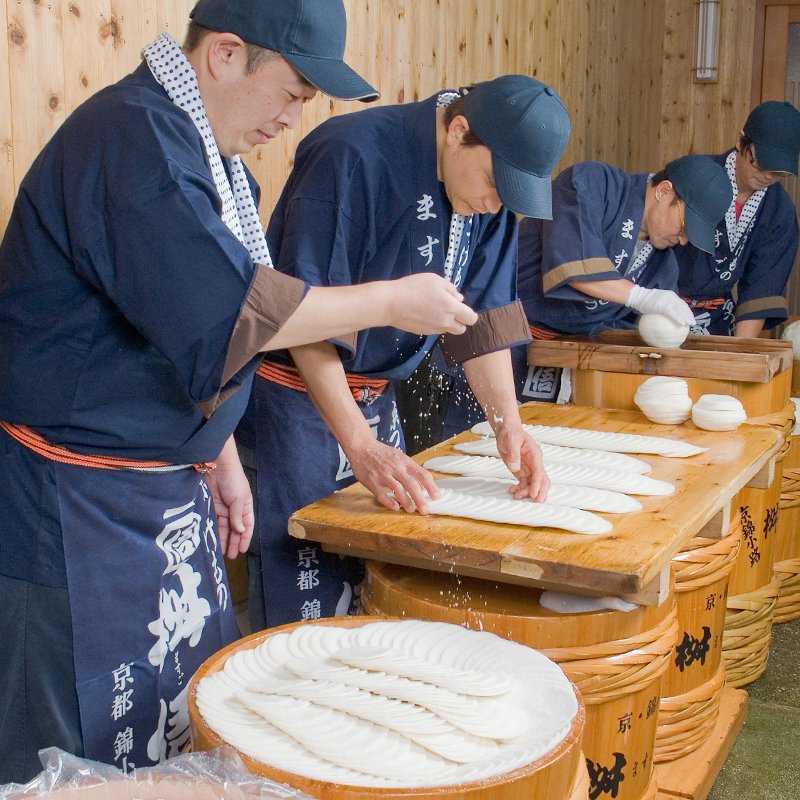
[[[312,86],[331,97],[380,97],[342,61],[347,18],[342,0],[200,0],[189,16],[204,28],[235,33],[280,53]]]

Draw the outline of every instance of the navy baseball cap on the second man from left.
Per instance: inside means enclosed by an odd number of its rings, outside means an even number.
[[[570,134],[569,113],[555,90],[527,75],[503,75],[470,89],[464,116],[492,153],[503,205],[552,219],[552,174]]]

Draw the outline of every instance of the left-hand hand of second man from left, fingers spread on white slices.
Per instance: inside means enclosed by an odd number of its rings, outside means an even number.
[[[396,447],[370,438],[347,452],[347,457],[356,479],[391,511],[402,508],[426,514],[428,499],[439,496],[430,472]]]

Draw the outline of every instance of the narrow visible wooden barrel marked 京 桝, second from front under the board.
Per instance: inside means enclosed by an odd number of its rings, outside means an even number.
[[[655,761],[696,750],[713,731],[725,685],[722,640],[728,577],[740,544],[738,517],[722,539],[690,539],[672,560],[678,639],[664,674]]]

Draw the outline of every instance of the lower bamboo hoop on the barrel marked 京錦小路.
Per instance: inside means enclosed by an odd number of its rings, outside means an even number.
[[[722,639],[728,686],[746,686],[767,668],[779,593],[780,581],[776,578],[753,592],[728,597]]]

